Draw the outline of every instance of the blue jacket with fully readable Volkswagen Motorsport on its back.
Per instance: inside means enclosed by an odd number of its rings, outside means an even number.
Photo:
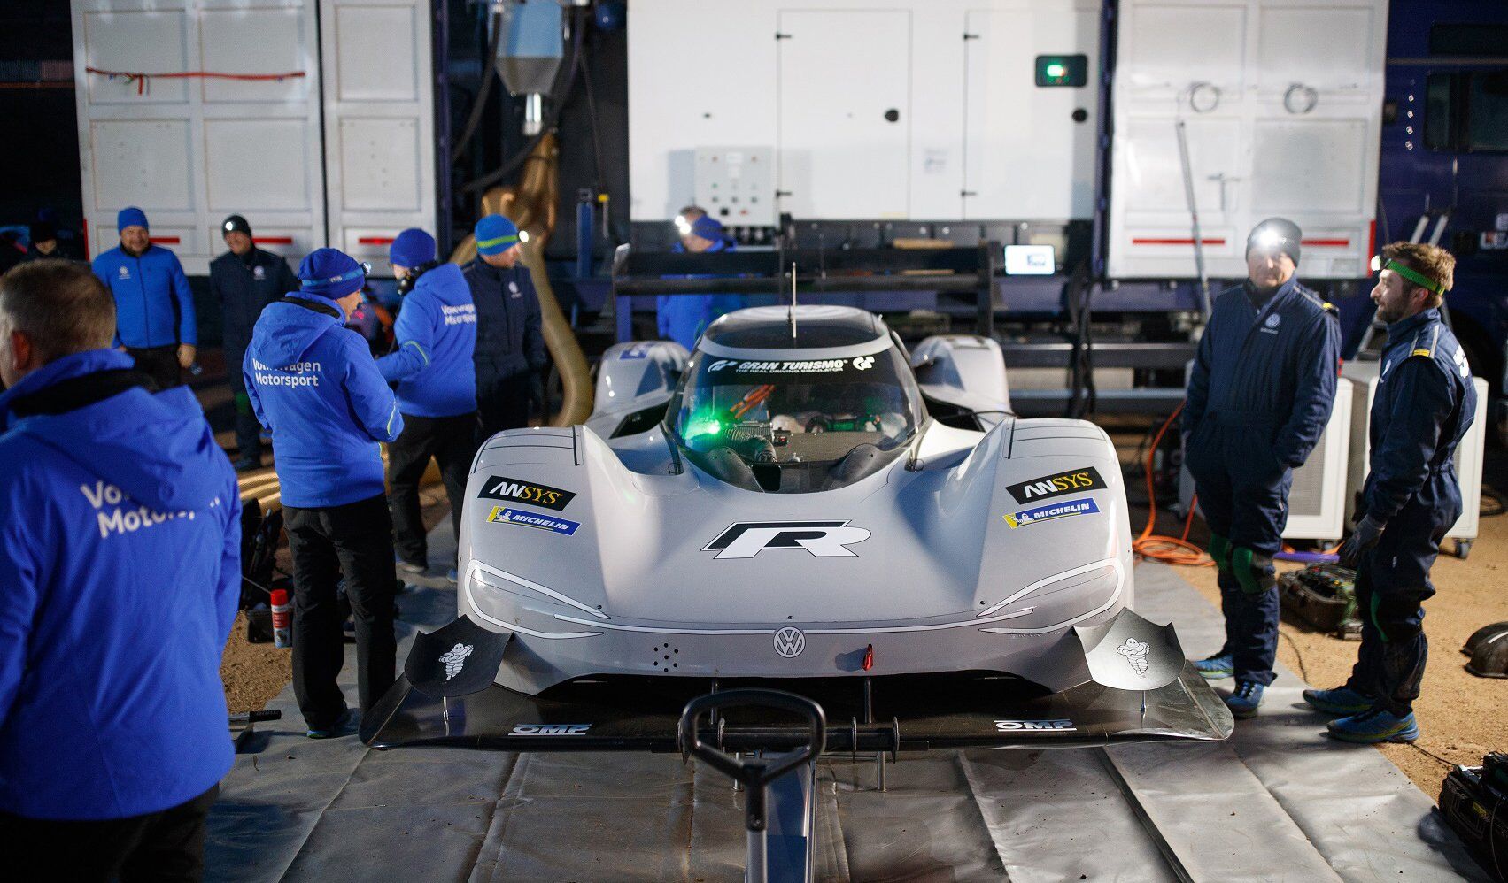
[[[397,438],[403,417],[339,304],[309,292],[268,304],[241,369],[256,420],[273,434],[285,506],[344,506],[386,490],[377,443]]]

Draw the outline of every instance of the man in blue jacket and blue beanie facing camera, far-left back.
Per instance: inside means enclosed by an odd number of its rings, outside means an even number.
[[[158,387],[178,386],[199,344],[188,277],[178,255],[152,244],[146,212],[122,208],[115,223],[121,244],[93,259],[95,276],[115,295],[115,342]]]

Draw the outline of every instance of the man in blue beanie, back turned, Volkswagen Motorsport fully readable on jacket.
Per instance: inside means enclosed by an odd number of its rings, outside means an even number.
[[[336,583],[356,619],[362,711],[392,687],[397,574],[382,449],[403,432],[366,341],[345,327],[366,270],[335,249],[299,265],[299,291],[262,310],[246,351],[246,393],[271,429],[293,556],[293,687],[311,738],[351,729],[335,678],[345,655]]]

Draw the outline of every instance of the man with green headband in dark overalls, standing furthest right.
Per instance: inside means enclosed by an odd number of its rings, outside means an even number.
[[[1454,276],[1455,258],[1445,249],[1393,243],[1383,249],[1372,289],[1387,347],[1369,416],[1362,520],[1341,545],[1341,564],[1356,568],[1362,648],[1345,684],[1304,690],[1315,708],[1344,714],[1329,729],[1347,741],[1419,738],[1413,701],[1430,649],[1430,567],[1461,517],[1455,448],[1476,416],[1466,353],[1440,321]]]

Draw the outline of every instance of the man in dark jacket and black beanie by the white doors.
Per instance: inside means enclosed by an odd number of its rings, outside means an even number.
[[[262,428],[246,396],[241,360],[252,342],[252,325],[262,307],[299,289],[299,277],[282,256],[259,249],[252,240],[252,225],[232,214],[220,223],[220,235],[231,250],[210,261],[210,291],[220,301],[223,318],[226,381],[235,402],[235,470],[262,464]]]

